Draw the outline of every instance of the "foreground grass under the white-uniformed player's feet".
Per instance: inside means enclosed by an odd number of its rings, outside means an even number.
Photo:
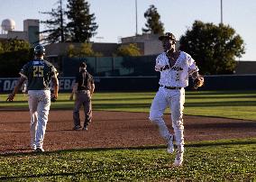
[[[256,139],[188,143],[182,168],[165,147],[59,150],[0,156],[9,181],[255,181]]]

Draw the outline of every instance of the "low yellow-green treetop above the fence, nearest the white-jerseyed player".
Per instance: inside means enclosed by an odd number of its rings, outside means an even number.
[[[130,43],[128,45],[121,45],[117,49],[117,56],[141,56],[142,53],[138,48],[137,44]]]

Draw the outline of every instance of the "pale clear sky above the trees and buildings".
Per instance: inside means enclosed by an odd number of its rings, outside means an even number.
[[[0,21],[15,21],[15,31],[23,31],[23,20],[47,20],[40,12],[56,8],[58,0],[0,0]],[[90,14],[95,14],[97,34],[91,41],[119,42],[123,37],[142,33],[144,13],[154,5],[160,14],[165,32],[173,32],[177,39],[196,21],[221,23],[221,0],[88,0]],[[64,6],[67,0],[63,0]],[[230,25],[242,36],[246,53],[240,60],[256,61],[256,0],[223,0],[223,23]],[[41,25],[42,31],[44,26]]]

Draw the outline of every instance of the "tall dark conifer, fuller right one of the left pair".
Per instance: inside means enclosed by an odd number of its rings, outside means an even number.
[[[85,0],[68,0],[67,15],[69,23],[67,28],[71,35],[71,41],[85,42],[96,35],[98,28],[95,23],[95,14],[89,14],[89,5]]]

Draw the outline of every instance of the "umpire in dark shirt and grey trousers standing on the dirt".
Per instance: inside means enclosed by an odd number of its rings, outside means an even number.
[[[95,90],[94,78],[87,72],[87,64],[82,62],[79,66],[79,73],[76,77],[76,83],[73,86],[72,93],[69,100],[73,100],[76,94],[75,106],[73,110],[74,128],[73,130],[80,130],[79,110],[84,106],[85,123],[82,130],[87,131],[87,126],[92,121],[92,103],[91,98]]]

